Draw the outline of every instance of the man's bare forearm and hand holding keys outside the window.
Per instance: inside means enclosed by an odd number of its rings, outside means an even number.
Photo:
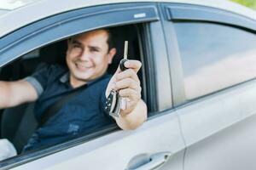
[[[106,96],[111,89],[119,90],[119,95],[126,100],[125,109],[121,110],[120,117],[115,121],[124,130],[135,129],[147,120],[147,105],[141,99],[141,85],[137,71],[142,64],[138,60],[125,62],[127,70],[115,72],[106,90]]]

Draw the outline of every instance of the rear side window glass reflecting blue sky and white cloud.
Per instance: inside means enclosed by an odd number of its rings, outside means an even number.
[[[256,35],[203,22],[175,23],[187,99],[256,77]]]

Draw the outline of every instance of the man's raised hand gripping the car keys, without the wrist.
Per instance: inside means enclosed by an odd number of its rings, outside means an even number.
[[[126,116],[133,111],[141,99],[142,88],[140,80],[137,77],[137,71],[140,70],[142,63],[138,60],[128,60],[125,62],[125,71],[120,68],[114,73],[108,88],[106,90],[106,97],[112,89],[119,90],[119,95],[125,99],[125,109],[121,110],[120,115]]]

